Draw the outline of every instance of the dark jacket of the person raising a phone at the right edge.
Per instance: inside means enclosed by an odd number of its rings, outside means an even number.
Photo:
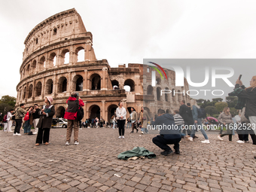
[[[239,88],[239,84],[235,88]],[[256,116],[256,88],[243,89],[238,97],[245,99],[245,117]]]

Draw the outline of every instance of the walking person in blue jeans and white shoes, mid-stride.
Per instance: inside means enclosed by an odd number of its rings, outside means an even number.
[[[198,128],[198,129],[200,129],[201,133],[203,134],[203,136],[205,138],[205,140],[202,141],[202,143],[210,143],[208,136],[206,135],[206,131],[203,129],[203,124],[202,124],[202,120],[206,115],[203,114],[203,110],[201,111],[201,108],[197,104],[192,106],[192,115],[193,115],[193,119],[194,119],[194,127],[193,127],[191,135],[188,139],[190,140],[190,142],[193,142],[193,138],[194,138],[196,130]]]

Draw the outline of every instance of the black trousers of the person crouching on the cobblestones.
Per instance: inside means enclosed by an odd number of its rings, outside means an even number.
[[[152,139],[152,142],[154,142],[155,145],[157,145],[159,148],[163,149],[164,151],[172,151],[172,149],[168,146],[170,144],[174,144],[175,151],[179,150],[179,142],[181,141],[181,138],[178,139],[164,139],[163,136],[156,136]]]

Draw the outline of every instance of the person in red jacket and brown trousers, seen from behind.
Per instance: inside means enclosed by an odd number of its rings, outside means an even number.
[[[84,102],[78,96],[78,93],[72,93],[72,95],[67,100],[68,108],[65,112],[64,118],[68,120],[67,134],[66,134],[66,145],[69,145],[72,136],[72,129],[74,126],[74,141],[75,145],[78,145],[78,108],[84,106]]]

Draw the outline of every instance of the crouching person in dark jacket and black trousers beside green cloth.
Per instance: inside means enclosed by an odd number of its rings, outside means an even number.
[[[154,137],[152,142],[164,150],[161,154],[165,156],[173,152],[168,146],[170,144],[174,144],[175,154],[180,154],[179,142],[181,141],[181,134],[179,133],[178,126],[175,126],[174,117],[172,114],[165,114],[163,109],[159,109],[157,114],[158,117],[154,121],[153,126],[158,126],[160,136]]]

